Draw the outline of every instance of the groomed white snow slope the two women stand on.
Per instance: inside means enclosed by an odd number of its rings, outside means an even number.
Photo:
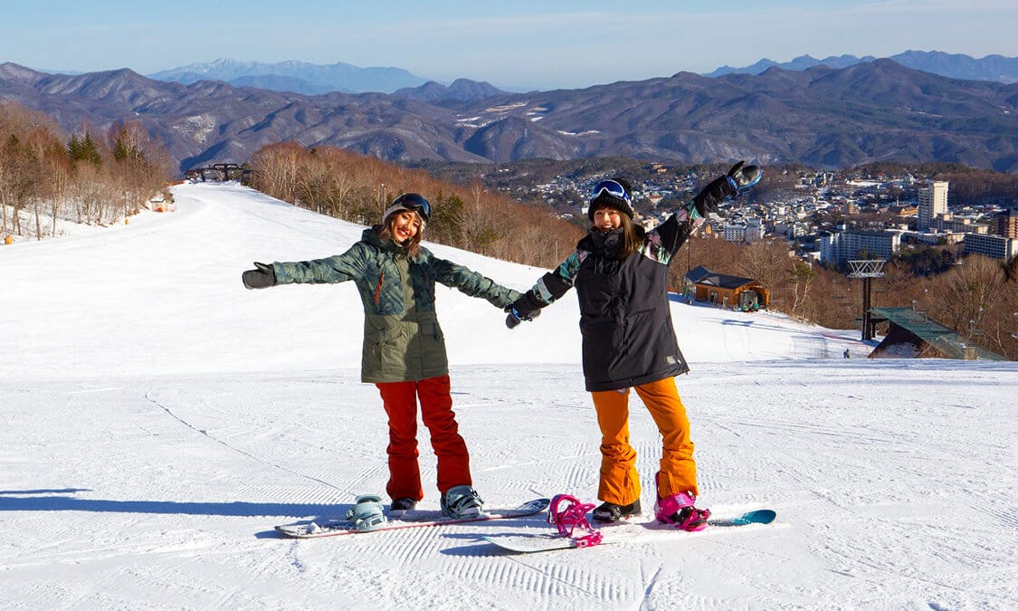
[[[1016,364],[846,360],[866,351],[857,331],[678,302],[700,504],[772,507],[775,524],[527,556],[480,537],[547,532],[540,516],[277,538],[384,492],[385,420],[359,382],[354,287],[248,291],[240,272],[341,253],[362,228],[235,184],[175,197],[0,246],[2,609],[1018,607]],[[519,289],[544,272],[433,249]],[[488,505],[593,502],[575,299],[513,331],[485,301],[438,299]],[[649,508],[660,441],[632,403]]]

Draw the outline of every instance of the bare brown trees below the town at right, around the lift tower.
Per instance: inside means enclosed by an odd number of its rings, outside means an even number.
[[[687,269],[702,265],[760,281],[771,290],[772,310],[830,329],[860,329],[862,282],[789,254],[783,240],[740,245],[697,236],[676,255],[672,284],[681,287]],[[915,308],[971,343],[1018,359],[1018,258],[1002,263],[970,255],[944,273],[921,277],[909,262],[892,260],[884,272],[872,281],[872,307]]]

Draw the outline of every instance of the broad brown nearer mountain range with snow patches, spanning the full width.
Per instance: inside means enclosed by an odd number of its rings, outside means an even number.
[[[392,95],[185,85],[128,69],[48,74],[6,63],[0,101],[46,112],[68,131],[136,120],[181,169],[244,162],[264,145],[293,141],[394,161],[624,156],[840,168],[894,160],[1018,171],[1018,84],[949,78],[889,59],[527,94],[425,82]]]

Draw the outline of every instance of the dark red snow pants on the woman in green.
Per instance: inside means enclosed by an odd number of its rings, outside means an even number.
[[[431,432],[432,448],[438,456],[438,489],[445,494],[454,486],[472,485],[470,457],[459,435],[452,410],[449,376],[419,382],[376,384],[389,416],[389,483],[386,492],[393,499],[425,498],[417,464],[417,399],[420,418]]]

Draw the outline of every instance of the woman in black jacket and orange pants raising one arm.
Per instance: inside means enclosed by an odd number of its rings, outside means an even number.
[[[703,217],[759,177],[759,168],[739,162],[686,209],[648,232],[633,223],[629,184],[621,179],[600,182],[587,211],[593,226],[576,251],[506,309],[512,327],[576,287],[583,377],[602,433],[598,498],[604,503],[593,510],[595,519],[617,521],[640,513],[636,452],[629,445],[628,399],[634,388],[663,437],[655,476],[657,518],[685,531],[706,527],[711,512],[694,506],[693,443],[675,387],[674,377],[689,368],[672,327],[668,264]]]

